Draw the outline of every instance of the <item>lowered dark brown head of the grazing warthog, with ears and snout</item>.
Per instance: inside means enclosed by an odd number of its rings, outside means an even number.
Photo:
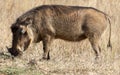
[[[8,52],[13,56],[21,55],[28,48],[33,39],[33,33],[30,28],[32,21],[30,18],[18,19],[11,26],[12,31],[12,48],[8,48]]]

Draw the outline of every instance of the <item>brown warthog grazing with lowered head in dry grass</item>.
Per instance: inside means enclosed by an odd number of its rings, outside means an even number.
[[[24,13],[11,26],[13,40],[12,48],[8,51],[18,56],[32,42],[42,41],[43,59],[48,60],[50,45],[54,39],[81,41],[88,38],[98,57],[98,42],[108,24],[110,25],[108,16],[92,7],[43,5]]]

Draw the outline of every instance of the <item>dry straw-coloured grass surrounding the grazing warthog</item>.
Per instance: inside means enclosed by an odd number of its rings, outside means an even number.
[[[101,59],[94,61],[88,40],[71,43],[55,40],[50,61],[39,61],[42,44],[32,44],[21,58],[12,59],[10,26],[22,13],[43,4],[95,7],[111,16],[112,46],[107,49],[109,27],[100,42]],[[0,75],[120,75],[120,0],[0,0]]]

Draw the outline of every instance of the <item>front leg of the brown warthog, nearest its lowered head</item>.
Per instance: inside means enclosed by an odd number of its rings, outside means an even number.
[[[43,59],[50,59],[50,45],[52,43],[52,38],[47,36],[43,39]]]

